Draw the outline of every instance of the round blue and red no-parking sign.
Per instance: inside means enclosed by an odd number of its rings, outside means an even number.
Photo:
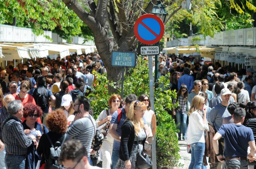
[[[164,23],[154,14],[145,14],[136,20],[133,31],[141,43],[152,45],[163,37]]]

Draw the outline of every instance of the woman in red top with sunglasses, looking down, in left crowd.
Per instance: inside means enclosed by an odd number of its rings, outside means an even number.
[[[32,95],[28,94],[28,90],[29,90],[29,82],[28,81],[22,81],[20,83],[20,93],[13,94],[15,100],[21,100],[21,102],[24,106],[28,103],[32,103],[32,104],[36,105],[35,99],[33,98]],[[22,117],[21,121],[23,122],[24,120],[25,120],[25,118]],[[37,122],[41,123],[40,118],[37,118]]]

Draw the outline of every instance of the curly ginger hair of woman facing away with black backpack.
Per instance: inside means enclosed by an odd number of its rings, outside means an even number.
[[[46,126],[55,133],[64,134],[68,130],[67,117],[62,109],[56,109],[46,116]]]

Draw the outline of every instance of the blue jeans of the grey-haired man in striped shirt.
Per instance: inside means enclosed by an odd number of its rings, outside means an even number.
[[[5,166],[8,169],[25,169],[25,156],[9,156],[5,155]]]

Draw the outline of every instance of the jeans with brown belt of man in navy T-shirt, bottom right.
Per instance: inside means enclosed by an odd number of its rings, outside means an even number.
[[[230,159],[223,163],[225,169],[246,169],[248,168],[247,160]]]

